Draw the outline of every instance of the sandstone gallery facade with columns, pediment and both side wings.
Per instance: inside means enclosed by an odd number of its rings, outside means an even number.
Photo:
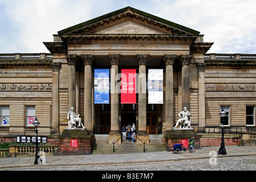
[[[191,126],[255,127],[256,56],[206,53],[213,43],[200,32],[126,7],[54,34],[44,42],[51,53],[0,55],[0,135],[31,135],[30,119],[41,123],[39,133],[59,134],[67,127],[70,107],[81,114],[87,130],[108,134],[109,143],[121,127],[135,123],[137,134],[171,130],[187,107]],[[95,69],[109,69],[109,103],[94,103]],[[149,92],[138,89],[133,104],[122,104],[115,88],[121,69],[135,69],[138,88],[149,69],[163,71],[163,102],[149,104]],[[148,86],[148,85],[147,85]]]

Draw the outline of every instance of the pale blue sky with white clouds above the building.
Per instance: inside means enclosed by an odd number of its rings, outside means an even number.
[[[207,53],[256,54],[255,0],[0,0],[0,53],[49,53],[53,34],[127,6],[199,31]]]

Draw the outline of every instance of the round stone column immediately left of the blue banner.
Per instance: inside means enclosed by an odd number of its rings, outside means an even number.
[[[85,65],[85,89],[84,89],[84,114],[85,127],[89,131],[93,131],[92,123],[92,92],[91,92],[91,64],[94,61],[94,55],[81,55],[83,64]]]

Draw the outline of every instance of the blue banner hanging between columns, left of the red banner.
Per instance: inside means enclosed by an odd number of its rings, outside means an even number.
[[[109,104],[109,69],[94,69],[94,104]]]

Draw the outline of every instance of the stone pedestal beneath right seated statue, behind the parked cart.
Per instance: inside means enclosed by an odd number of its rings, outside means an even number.
[[[199,149],[200,147],[200,138],[202,135],[198,135],[197,132],[193,129],[172,129],[168,131],[165,135],[166,151],[171,151],[171,147],[174,144],[181,144],[182,139],[190,139],[195,137],[195,148]]]

